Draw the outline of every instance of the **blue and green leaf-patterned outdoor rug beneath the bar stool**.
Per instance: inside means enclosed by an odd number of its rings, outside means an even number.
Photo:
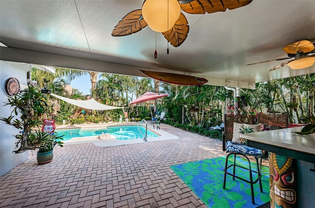
[[[248,162],[237,157],[237,164],[248,165]],[[244,163],[245,162],[245,163]],[[231,163],[229,163],[231,164]],[[251,200],[250,184],[232,176],[226,176],[225,189],[223,189],[223,168],[225,157],[216,157],[201,161],[173,165],[173,171],[191,188],[191,190],[210,208],[256,208],[270,201],[269,197],[269,168],[262,166],[262,189],[254,184],[255,204]],[[252,168],[256,169],[254,163]],[[228,169],[231,173],[233,169]],[[236,168],[237,176],[249,178],[248,171]],[[253,175],[256,177],[256,175]]]

